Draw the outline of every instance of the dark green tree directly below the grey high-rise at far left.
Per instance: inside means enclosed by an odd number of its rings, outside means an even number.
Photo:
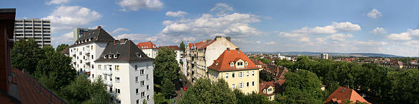
[[[11,53],[12,67],[25,70],[30,74],[34,74],[38,60],[44,58],[41,48],[39,48],[35,39],[31,38],[27,41],[25,39],[16,41]]]

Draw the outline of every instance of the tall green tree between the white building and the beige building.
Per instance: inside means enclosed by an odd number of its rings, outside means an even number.
[[[173,50],[161,48],[154,60],[154,90],[157,93],[162,92],[166,98],[175,94],[174,84],[181,78],[180,67],[175,56]]]

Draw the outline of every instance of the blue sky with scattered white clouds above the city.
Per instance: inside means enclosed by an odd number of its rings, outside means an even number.
[[[73,29],[157,46],[231,37],[244,52],[370,52],[419,56],[419,1],[6,0],[16,18],[51,20],[53,46]]]

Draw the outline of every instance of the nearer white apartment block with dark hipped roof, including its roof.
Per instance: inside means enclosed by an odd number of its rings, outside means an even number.
[[[106,46],[94,60],[92,79],[104,80],[115,94],[115,103],[154,103],[153,58],[149,58],[131,40],[120,39]]]

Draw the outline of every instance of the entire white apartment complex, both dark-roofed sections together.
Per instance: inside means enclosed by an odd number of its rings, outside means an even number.
[[[114,103],[154,103],[153,59],[132,41],[117,41],[98,27],[79,37],[69,51],[78,75],[86,73],[92,81],[101,77],[116,95]]]

